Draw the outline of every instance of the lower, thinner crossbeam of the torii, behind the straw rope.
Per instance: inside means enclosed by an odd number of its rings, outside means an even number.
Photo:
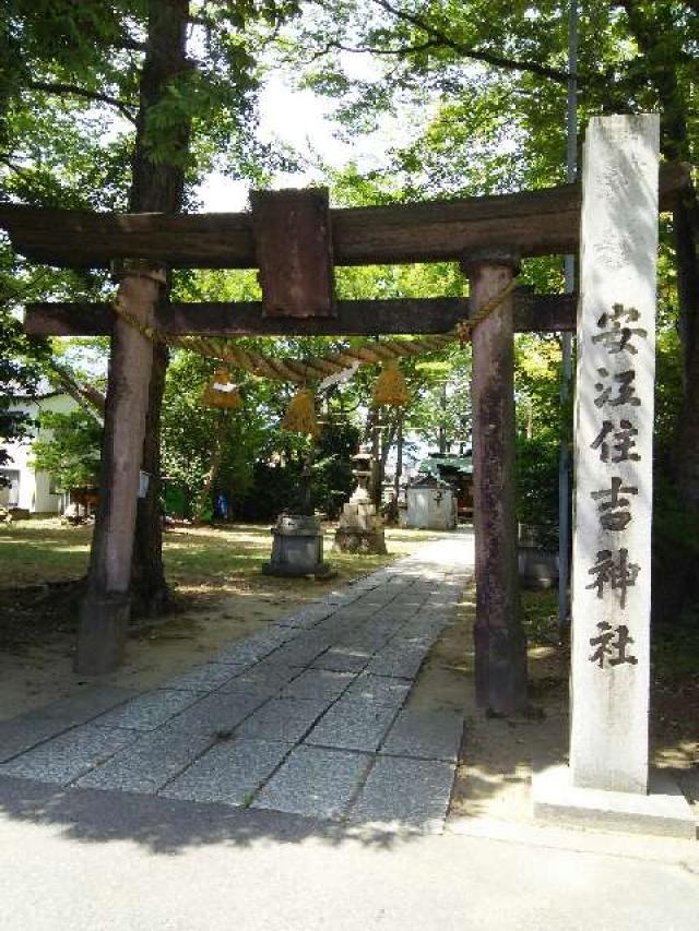
[[[516,295],[514,330],[520,333],[572,331],[573,295]],[[258,302],[167,303],[155,323],[174,336],[372,336],[449,333],[469,317],[467,298],[341,300],[334,318],[263,317]],[[114,312],[108,303],[31,303],[24,318],[34,336],[109,336]]]

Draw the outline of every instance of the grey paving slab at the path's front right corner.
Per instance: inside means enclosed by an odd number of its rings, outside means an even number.
[[[353,822],[399,822],[423,831],[443,828],[454,765],[379,756],[350,813]]]

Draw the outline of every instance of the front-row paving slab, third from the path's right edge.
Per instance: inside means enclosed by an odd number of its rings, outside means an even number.
[[[197,802],[247,804],[293,744],[237,738],[214,744],[159,795]]]

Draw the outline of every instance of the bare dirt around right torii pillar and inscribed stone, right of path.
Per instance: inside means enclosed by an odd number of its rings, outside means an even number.
[[[451,799],[452,817],[533,823],[532,776],[568,762],[569,649],[543,644],[530,631],[526,717],[488,717],[475,704],[473,637],[475,592],[469,588],[460,606],[460,623],[448,628],[430,656],[430,669],[451,671],[441,690],[449,704],[466,699],[466,724]],[[422,677],[420,677],[422,678]],[[420,680],[416,687],[419,693]],[[428,693],[435,693],[428,689]],[[429,694],[425,695],[429,701]],[[651,760],[668,768],[692,803],[699,820],[699,676],[679,683],[654,677],[651,695]]]

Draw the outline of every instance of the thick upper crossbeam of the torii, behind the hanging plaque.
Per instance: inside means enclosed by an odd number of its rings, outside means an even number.
[[[661,208],[671,210],[689,169],[660,172]],[[538,191],[330,211],[334,262],[367,265],[459,261],[473,249],[506,247],[521,256],[568,254],[579,244],[581,189]],[[251,213],[99,214],[5,204],[0,227],[14,250],[59,267],[108,267],[144,259],[170,267],[257,266]]]

